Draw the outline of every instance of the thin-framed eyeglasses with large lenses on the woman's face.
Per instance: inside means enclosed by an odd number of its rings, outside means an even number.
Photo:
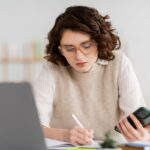
[[[94,40],[89,40],[81,43],[78,47],[74,45],[62,45],[59,46],[62,54],[67,57],[73,57],[77,50],[80,50],[84,55],[91,53],[96,48],[96,42]]]

